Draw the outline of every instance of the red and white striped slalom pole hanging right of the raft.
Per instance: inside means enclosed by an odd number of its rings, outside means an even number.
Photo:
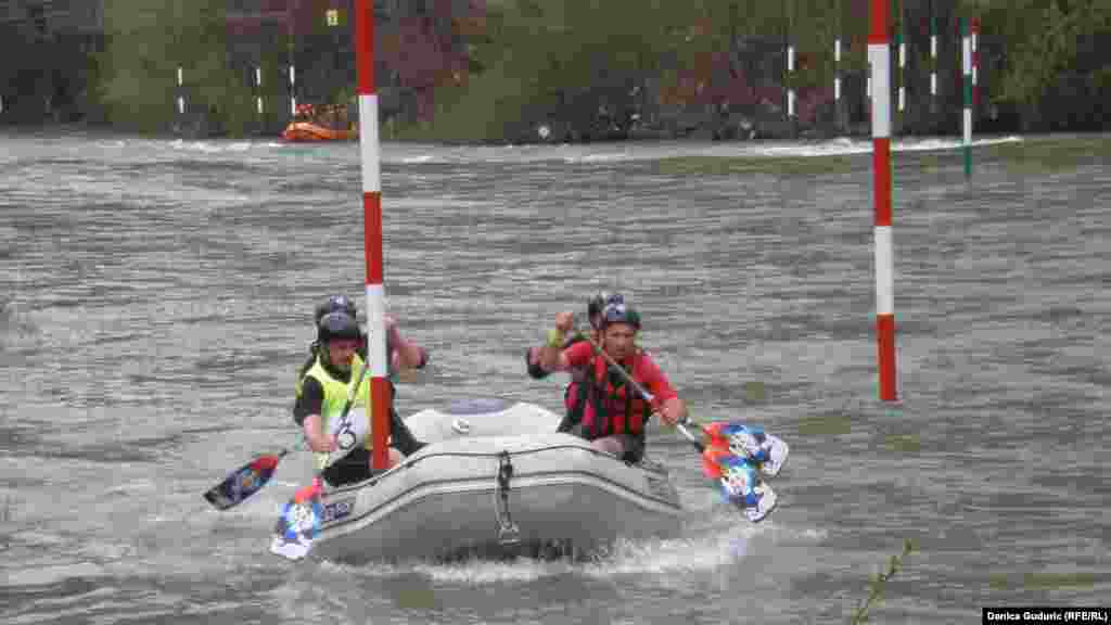
[[[894,260],[891,244],[891,48],[889,0],[872,0],[868,58],[872,65],[872,168],[875,205],[875,336],[880,399],[895,397]]]

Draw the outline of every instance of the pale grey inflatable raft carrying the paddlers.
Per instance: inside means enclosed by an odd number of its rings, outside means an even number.
[[[470,555],[581,556],[679,533],[667,470],[557,433],[560,416],[501,399],[406,419],[429,443],[371,480],[326,490],[309,554],[346,563]],[[281,540],[274,535],[276,542]]]

